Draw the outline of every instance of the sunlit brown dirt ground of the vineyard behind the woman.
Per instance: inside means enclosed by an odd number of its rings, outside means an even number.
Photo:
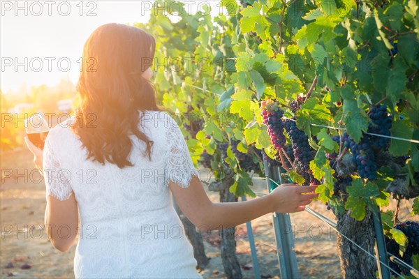
[[[1,174],[9,174],[11,170],[15,176],[2,179],[0,187],[0,278],[74,278],[75,245],[68,252],[59,252],[45,234],[45,184],[33,167],[31,153],[26,149],[3,153],[1,168]],[[255,178],[253,183],[253,191],[267,193],[264,179]],[[213,202],[219,202],[218,193],[207,191],[207,194]],[[325,204],[314,202],[309,207],[335,220]],[[403,202],[399,219],[412,219],[408,209],[409,203]],[[341,278],[336,232],[307,212],[292,213],[291,223],[292,227],[285,229],[292,229],[295,237],[300,278]],[[263,278],[279,278],[272,215],[253,220],[251,225],[260,274]],[[254,278],[245,224],[237,227],[236,240],[243,276]],[[205,237],[204,243],[211,259],[202,271],[203,277],[226,278],[218,232]]]

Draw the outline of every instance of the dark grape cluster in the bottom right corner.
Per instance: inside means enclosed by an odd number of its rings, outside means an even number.
[[[399,259],[402,259],[403,262],[406,262],[406,264],[413,266],[412,256],[419,254],[419,223],[407,221],[405,223],[397,224],[396,229],[402,231],[408,239],[406,250],[404,251],[402,257],[399,252],[399,244],[397,244],[394,239],[388,239],[386,237],[385,242],[387,251]],[[398,273],[404,273],[407,276],[411,275],[409,269],[404,268],[404,266],[398,266],[397,264],[390,262],[390,267]]]

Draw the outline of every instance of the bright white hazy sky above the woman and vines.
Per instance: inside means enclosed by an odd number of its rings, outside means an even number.
[[[182,1],[192,13],[219,13],[219,0]],[[154,1],[0,1],[0,89],[3,93],[61,79],[73,84],[80,74],[84,42],[109,22],[147,22]]]

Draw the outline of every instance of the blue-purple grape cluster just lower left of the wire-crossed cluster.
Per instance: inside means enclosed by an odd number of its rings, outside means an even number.
[[[374,150],[372,149],[372,139],[367,135],[364,135],[358,144],[351,139],[351,136],[346,132],[344,133],[342,140],[345,142],[345,146],[351,149],[353,156],[353,163],[357,165],[358,173],[362,178],[369,180],[375,180],[376,164],[374,163]]]

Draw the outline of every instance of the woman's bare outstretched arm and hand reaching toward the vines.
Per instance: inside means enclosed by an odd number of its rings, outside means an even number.
[[[196,176],[193,176],[187,188],[171,181],[169,183],[179,209],[200,230],[237,226],[266,213],[303,211],[304,206],[318,196],[314,193],[316,187],[284,184],[275,188],[269,195],[246,202],[213,203]]]

